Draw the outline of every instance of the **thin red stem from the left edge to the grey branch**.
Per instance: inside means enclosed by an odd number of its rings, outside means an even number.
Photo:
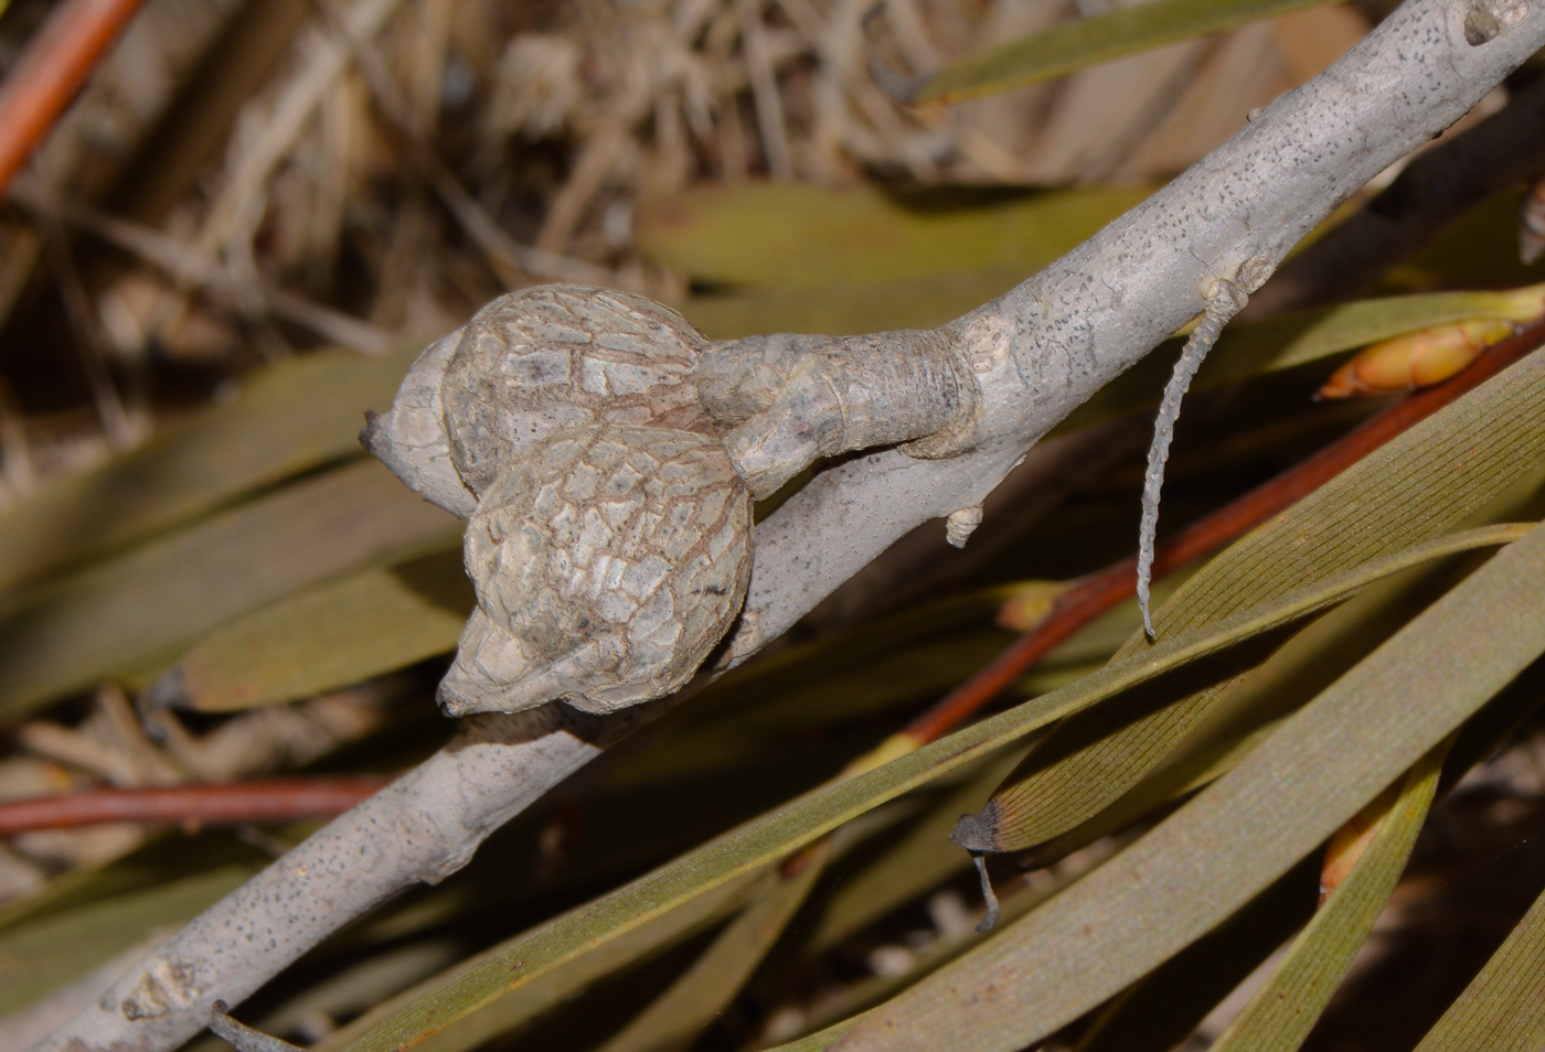
[[[331,817],[348,811],[388,782],[391,779],[385,777],[292,777],[141,789],[82,789],[0,803],[0,837],[102,822],[233,825]]]

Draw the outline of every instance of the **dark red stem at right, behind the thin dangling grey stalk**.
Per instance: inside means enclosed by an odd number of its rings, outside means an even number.
[[[1540,343],[1545,343],[1545,320],[1536,321],[1489,348],[1452,380],[1417,391],[1397,402],[1270,482],[1187,525],[1157,547],[1154,578],[1216,551],[1273,514],[1292,507],[1406,428],[1491,378]],[[1057,596],[1041,621],[1026,630],[976,675],[907,725],[904,734],[915,738],[918,745],[924,745],[959,726],[1034,667],[1058,643],[1115,604],[1131,598],[1136,587],[1137,556],[1114,562],[1077,581]]]

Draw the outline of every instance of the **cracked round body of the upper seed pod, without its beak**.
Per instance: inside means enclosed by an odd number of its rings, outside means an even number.
[[[643,297],[539,286],[467,324],[440,386],[451,459],[482,493],[501,465],[565,428],[598,423],[714,434],[692,371],[691,321]]]

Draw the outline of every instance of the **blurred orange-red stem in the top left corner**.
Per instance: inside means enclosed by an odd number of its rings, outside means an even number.
[[[0,196],[144,0],[66,0],[0,85]]]

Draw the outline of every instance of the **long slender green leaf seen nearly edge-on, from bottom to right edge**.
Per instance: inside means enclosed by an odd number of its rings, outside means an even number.
[[[1307,616],[1390,573],[1445,553],[1500,544],[1520,536],[1523,530],[1519,525],[1489,527],[1446,538],[1329,578],[1207,629],[1174,633],[1151,650],[1115,661],[1078,683],[1026,701],[873,771],[799,797],[587,907],[479,955],[411,996],[405,995],[351,1027],[348,1047],[351,1052],[406,1047],[448,1052],[471,1047],[552,1004],[555,989],[573,990],[581,981],[606,973],[609,947],[613,944],[630,944],[640,928],[678,911],[695,916],[705,896],[717,894],[726,884],[786,857],[907,789],[986,757],[1058,717],[1153,680],[1165,670]]]

